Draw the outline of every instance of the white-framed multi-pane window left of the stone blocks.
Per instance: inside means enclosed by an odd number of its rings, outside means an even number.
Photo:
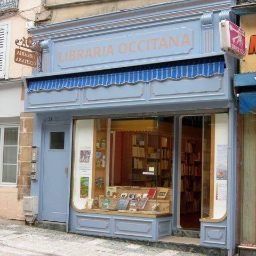
[[[18,170],[18,126],[0,126],[0,156],[2,184],[16,184]]]

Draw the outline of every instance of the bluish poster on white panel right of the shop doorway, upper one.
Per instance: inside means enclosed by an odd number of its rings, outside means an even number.
[[[217,180],[228,178],[228,145],[217,145],[216,175]]]

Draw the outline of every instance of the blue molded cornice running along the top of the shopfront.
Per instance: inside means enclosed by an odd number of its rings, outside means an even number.
[[[230,1],[228,0],[180,0],[54,23],[31,28],[29,32],[34,39],[39,40],[134,25],[138,27],[164,19],[185,18],[225,9],[230,9]]]

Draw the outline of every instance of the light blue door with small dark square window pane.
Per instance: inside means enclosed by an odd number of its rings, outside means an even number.
[[[45,125],[42,220],[66,222],[69,125]]]

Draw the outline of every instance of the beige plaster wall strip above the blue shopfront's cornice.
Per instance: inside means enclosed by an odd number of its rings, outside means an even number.
[[[46,4],[59,4],[67,2],[78,2],[77,0],[46,0]],[[58,9],[52,9],[52,20],[51,23],[56,23],[60,21],[73,20],[77,18],[84,18],[93,15],[98,15],[102,13],[116,12],[121,10],[132,9],[136,7],[174,2],[174,0],[115,0],[108,1],[103,0],[95,3],[84,3],[69,5],[67,7],[61,7]]]

